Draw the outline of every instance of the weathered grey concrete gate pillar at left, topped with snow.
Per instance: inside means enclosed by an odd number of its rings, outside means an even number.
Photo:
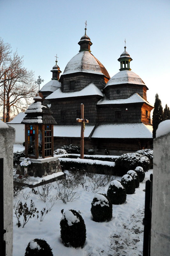
[[[0,121],[2,122],[2,121]],[[6,256],[13,252],[13,144],[15,129],[3,122],[0,123],[0,158],[4,159],[4,240]],[[3,170],[0,170],[3,171]]]

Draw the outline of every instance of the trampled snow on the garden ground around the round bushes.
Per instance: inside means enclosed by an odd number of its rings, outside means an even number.
[[[67,172],[68,173],[68,172]],[[145,179],[140,183],[139,188],[133,195],[127,195],[127,200],[122,205],[113,205],[113,218],[109,222],[94,222],[91,215],[91,203],[94,197],[91,188],[88,187],[84,190],[82,186],[76,188],[75,191],[79,193],[80,198],[73,202],[64,204],[61,200],[57,200],[53,209],[47,213],[43,221],[40,221],[36,216],[29,220],[29,222],[22,228],[18,228],[16,225],[17,219],[13,218],[13,256],[22,256],[25,253],[25,249],[30,240],[34,238],[45,239],[52,248],[54,256],[142,256],[143,249],[143,225],[142,219],[144,218],[144,197],[145,181],[149,179],[152,170],[145,173]],[[117,180],[121,180],[118,177]],[[88,182],[86,183],[88,185]],[[56,187],[56,182],[53,182]],[[106,193],[101,189],[98,193]],[[84,186],[85,188],[85,186]],[[35,190],[37,190],[35,188]],[[39,187],[41,190],[41,187]],[[89,190],[89,191],[88,191]],[[25,188],[23,192],[31,191],[29,188]],[[51,195],[56,193],[55,188],[51,190]],[[26,196],[25,194],[25,196]],[[31,192],[31,197],[27,199],[27,205],[30,204],[32,199],[35,203],[35,207],[40,212],[46,204],[39,200],[39,196]],[[21,199],[25,202],[25,199],[20,193],[16,200]],[[49,202],[48,202],[49,203]],[[62,218],[61,210],[67,211],[74,209],[80,211],[86,225],[86,242],[83,249],[65,247],[60,238],[60,220]]]

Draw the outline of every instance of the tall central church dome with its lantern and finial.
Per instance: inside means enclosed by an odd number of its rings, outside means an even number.
[[[100,74],[110,78],[106,68],[91,54],[90,46],[92,45],[92,42],[86,33],[81,37],[78,44],[80,45],[79,53],[68,62],[64,69],[63,75],[85,72],[91,74]]]

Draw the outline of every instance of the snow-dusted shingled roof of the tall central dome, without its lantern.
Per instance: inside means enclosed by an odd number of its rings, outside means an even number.
[[[103,74],[110,78],[106,68],[89,51],[80,51],[75,55],[66,65],[63,75],[76,72]]]

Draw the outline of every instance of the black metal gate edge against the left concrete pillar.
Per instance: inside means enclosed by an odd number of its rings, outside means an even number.
[[[0,158],[0,252],[6,254],[6,243],[4,241],[4,159]]]

